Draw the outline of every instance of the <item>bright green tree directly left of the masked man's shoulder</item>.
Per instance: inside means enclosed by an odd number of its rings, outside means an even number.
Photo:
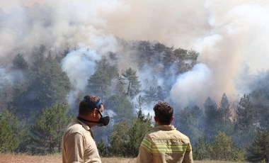
[[[57,104],[43,109],[32,128],[33,153],[60,152],[62,134],[70,119],[67,116],[67,106]]]

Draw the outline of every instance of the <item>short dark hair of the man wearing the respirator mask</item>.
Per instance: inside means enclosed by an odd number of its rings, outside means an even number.
[[[91,96],[91,95],[86,95],[84,96],[84,99],[82,99],[79,102],[79,114],[81,115],[88,115],[89,113],[91,113],[94,108],[96,108],[96,104],[98,103],[98,101],[100,101],[100,97],[99,96]],[[101,103],[103,105],[103,103]],[[98,106],[98,108],[100,108],[100,106]]]

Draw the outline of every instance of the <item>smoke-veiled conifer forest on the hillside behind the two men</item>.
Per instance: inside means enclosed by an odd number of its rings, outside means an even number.
[[[136,157],[154,125],[152,106],[168,101],[173,125],[190,137],[195,159],[269,162],[269,72],[261,72],[251,83],[258,84],[236,98],[222,92],[220,101],[205,96],[202,106],[178,105],[171,100],[171,83],[202,64],[199,53],[149,41],[119,42],[121,50],[101,55],[90,48],[59,52],[40,45],[1,64],[0,152],[61,152],[62,133],[79,101],[95,94],[111,118],[108,126],[93,129],[103,157]],[[121,67],[122,54],[136,64]]]

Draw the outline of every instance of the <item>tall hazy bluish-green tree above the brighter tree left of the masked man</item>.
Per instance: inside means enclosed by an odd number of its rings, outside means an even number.
[[[49,54],[41,64],[32,69],[33,82],[30,94],[35,96],[35,107],[50,107],[52,103],[67,103],[71,84],[61,64]]]

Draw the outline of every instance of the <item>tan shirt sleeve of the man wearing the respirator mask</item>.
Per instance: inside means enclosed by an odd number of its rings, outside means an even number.
[[[79,133],[73,133],[66,137],[66,161],[84,162],[84,137]]]

